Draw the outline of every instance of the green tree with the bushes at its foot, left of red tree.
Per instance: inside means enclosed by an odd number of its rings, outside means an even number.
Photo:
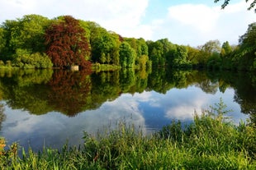
[[[50,58],[44,53],[45,30],[49,25],[50,20],[39,15],[26,15],[16,21],[5,21],[0,29],[1,59],[10,60],[12,66],[22,68],[51,67]]]

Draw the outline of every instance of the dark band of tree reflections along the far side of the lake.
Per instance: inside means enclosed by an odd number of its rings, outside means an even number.
[[[235,102],[241,112],[255,120],[256,76],[244,72],[152,71],[119,70],[91,73],[86,71],[36,70],[0,71],[0,94],[8,107],[21,108],[32,114],[51,111],[74,116],[99,108],[123,93],[154,90],[165,94],[173,88],[195,85],[205,93],[235,90]]]

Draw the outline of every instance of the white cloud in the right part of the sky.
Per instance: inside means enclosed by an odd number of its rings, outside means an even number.
[[[224,10],[191,3],[169,7],[164,21],[154,27],[153,37],[165,37],[175,44],[192,46],[205,44],[211,39],[237,44],[239,35],[255,21],[254,11],[247,11],[247,7],[248,3],[244,1],[230,4]]]

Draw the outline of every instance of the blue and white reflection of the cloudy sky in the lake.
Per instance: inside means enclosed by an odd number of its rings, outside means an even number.
[[[218,103],[220,98],[233,109],[230,116],[234,122],[247,116],[240,113],[239,104],[233,102],[234,90],[227,89],[225,93],[206,94],[201,89],[190,86],[187,89],[169,90],[166,94],[154,91],[121,94],[114,101],[103,103],[96,110],[79,113],[75,117],[66,117],[61,113],[47,113],[45,115],[31,115],[26,111],[12,110],[6,107],[7,119],[2,122],[1,136],[7,141],[19,141],[20,145],[33,149],[41,149],[43,145],[58,147],[69,139],[70,145],[83,143],[83,131],[93,134],[104,131],[104,128],[115,128],[116,122],[125,120],[126,124],[142,127],[146,133],[150,129],[158,129],[179,119],[191,122],[193,113],[201,113],[201,108]]]

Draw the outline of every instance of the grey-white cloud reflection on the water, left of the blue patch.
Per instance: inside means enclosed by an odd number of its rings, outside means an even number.
[[[60,113],[47,113],[45,115],[31,115],[20,109],[12,110],[6,107],[7,119],[2,123],[2,136],[8,142],[19,141],[20,145],[27,146],[29,142],[33,147],[42,145],[55,147],[64,145],[69,140],[70,145],[79,145],[83,142],[83,131],[95,134],[97,131],[105,132],[106,128],[115,129],[121,120],[126,125],[141,127],[147,133],[145,118],[139,103],[131,95],[123,95],[121,99],[102,104],[101,108],[79,113],[76,117],[66,117]]]

